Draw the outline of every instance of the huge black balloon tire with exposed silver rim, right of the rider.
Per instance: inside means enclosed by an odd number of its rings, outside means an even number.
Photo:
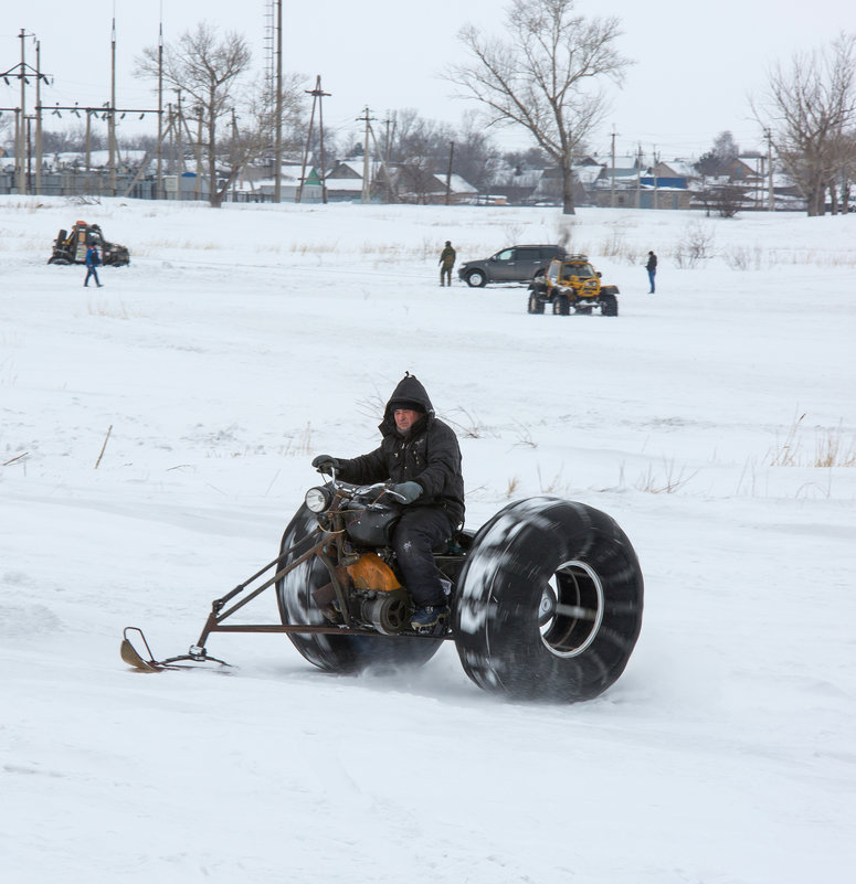
[[[480,688],[577,702],[624,671],[642,627],[643,578],[615,521],[557,498],[518,501],[476,534],[453,630]]]

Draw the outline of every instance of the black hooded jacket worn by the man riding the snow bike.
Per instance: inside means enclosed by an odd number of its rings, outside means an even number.
[[[423,415],[404,434],[395,426],[395,407],[420,406]],[[387,403],[380,447],[368,455],[342,460],[339,476],[346,482],[418,482],[422,494],[413,507],[442,507],[455,529],[464,521],[464,476],[461,448],[454,430],[434,414],[425,387],[405,374]]]

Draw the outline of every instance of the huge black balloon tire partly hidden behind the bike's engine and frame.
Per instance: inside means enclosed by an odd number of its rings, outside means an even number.
[[[309,537],[318,530],[318,519],[305,505],[295,513],[283,533],[279,552],[296,548],[283,558],[283,568],[311,546]],[[313,589],[330,582],[318,556],[311,556],[276,582],[279,619],[294,624],[328,624],[311,597]],[[369,668],[394,669],[426,663],[443,643],[442,639],[413,636],[348,636],[330,633],[286,633],[294,647],[310,663],[325,672],[357,673]]]

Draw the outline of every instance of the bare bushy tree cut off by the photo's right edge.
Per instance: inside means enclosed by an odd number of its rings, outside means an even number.
[[[850,160],[847,129],[856,120],[856,36],[841,34],[789,67],[775,65],[755,118],[770,120],[773,145],[809,204],[822,215],[826,189]]]

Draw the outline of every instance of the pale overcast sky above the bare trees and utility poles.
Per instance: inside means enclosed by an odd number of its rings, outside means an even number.
[[[162,15],[165,41],[207,19],[223,31],[243,33],[262,68],[265,29],[272,7],[265,0],[3,0],[0,21],[0,71],[21,60],[19,33],[24,29],[41,43],[42,70],[53,76],[44,87],[45,106],[102,105],[110,89],[110,21],[117,34],[117,105],[156,107],[148,83],[133,76],[134,58],[156,45]],[[501,0],[284,0],[283,57],[286,71],[305,75],[306,88],[321,75],[326,92],[325,126],[344,136],[357,135],[356,118],[368,106],[383,119],[387,111],[415,108],[422,116],[458,125],[473,103],[455,99],[453,86],[440,77],[461,57],[459,28],[468,22],[501,31]],[[624,35],[621,51],[635,60],[623,88],[610,86],[612,109],[593,139],[609,151],[615,129],[620,153],[642,146],[664,159],[698,156],[715,136],[729,129],[744,150],[761,146],[761,128],[751,119],[748,96],[763,88],[767,71],[797,51],[827,44],[841,31],[856,31],[856,7],[849,0],[814,0],[783,4],[772,0],[719,0],[701,7],[685,0],[579,0],[586,15],[615,15]],[[25,42],[27,61],[35,65],[33,40]],[[0,79],[0,105],[20,104],[18,81]],[[34,104],[34,93],[28,96]],[[61,128],[47,118],[47,128]],[[120,124],[128,126],[128,123]],[[135,126],[138,124],[135,124]],[[136,131],[136,129],[135,129]],[[155,131],[154,123],[151,131]],[[505,146],[530,142],[519,131],[506,131]]]

